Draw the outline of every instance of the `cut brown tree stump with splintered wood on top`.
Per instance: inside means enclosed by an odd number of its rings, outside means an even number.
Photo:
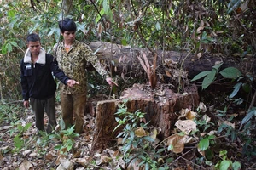
[[[102,150],[116,142],[116,136],[120,133],[117,129],[114,113],[119,109],[118,105],[124,99],[129,112],[137,110],[147,113],[146,122],[154,127],[160,127],[160,139],[171,135],[171,131],[177,121],[176,112],[181,109],[194,109],[199,105],[199,95],[195,85],[187,87],[183,94],[175,93],[170,85],[161,84],[154,90],[144,84],[134,84],[132,88],[126,88],[120,99],[99,101],[96,105],[96,129],[93,135],[91,150]]]

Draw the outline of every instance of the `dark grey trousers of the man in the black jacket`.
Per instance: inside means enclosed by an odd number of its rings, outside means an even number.
[[[55,116],[55,95],[49,99],[30,99],[32,111],[36,116],[36,127],[38,130],[44,131],[44,111],[48,116],[47,133],[51,133],[56,127]]]

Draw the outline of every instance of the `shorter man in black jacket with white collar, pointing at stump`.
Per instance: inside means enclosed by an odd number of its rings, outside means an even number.
[[[49,118],[46,132],[51,133],[56,126],[56,83],[52,73],[63,84],[71,88],[79,82],[67,77],[59,68],[55,58],[51,54],[45,53],[38,34],[29,34],[26,37],[26,45],[25,57],[20,61],[23,104],[26,108],[32,105],[32,111],[36,117],[36,127],[40,131],[44,131],[44,111],[46,112]]]

